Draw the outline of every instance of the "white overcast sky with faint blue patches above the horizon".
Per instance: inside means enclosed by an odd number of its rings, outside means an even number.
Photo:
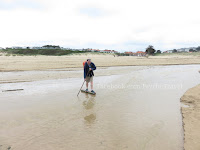
[[[0,47],[200,46],[199,0],[0,0]]]

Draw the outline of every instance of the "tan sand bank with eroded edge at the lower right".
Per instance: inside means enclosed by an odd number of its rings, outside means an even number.
[[[200,85],[189,89],[181,98],[185,150],[200,149]],[[188,107],[189,106],[189,107]]]

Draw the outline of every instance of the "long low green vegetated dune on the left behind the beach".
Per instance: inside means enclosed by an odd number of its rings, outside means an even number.
[[[61,56],[77,53],[87,53],[85,51],[61,50],[61,49],[5,49],[1,50],[7,55],[52,55]]]

